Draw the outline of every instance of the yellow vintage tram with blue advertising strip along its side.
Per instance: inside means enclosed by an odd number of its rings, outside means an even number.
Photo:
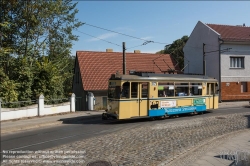
[[[112,74],[102,119],[167,117],[218,108],[218,82],[201,75]]]

